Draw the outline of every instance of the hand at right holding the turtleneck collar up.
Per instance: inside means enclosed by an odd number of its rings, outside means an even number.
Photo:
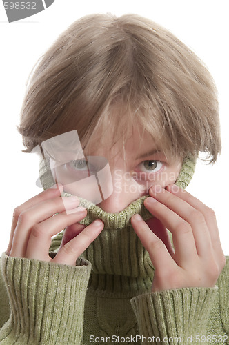
[[[160,234],[153,219],[148,221],[149,226],[141,217],[138,219],[139,215],[131,219],[155,267],[152,291],[213,287],[225,265],[215,213],[178,186],[166,189],[152,186],[151,196],[144,201],[157,219]],[[174,250],[166,228],[172,233]]]

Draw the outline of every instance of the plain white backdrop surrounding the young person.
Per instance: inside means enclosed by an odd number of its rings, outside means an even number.
[[[37,157],[21,152],[23,145],[16,128],[28,75],[37,59],[70,23],[97,12],[135,13],[156,21],[192,48],[212,73],[219,91],[223,151],[214,166],[198,161],[187,189],[215,210],[223,251],[229,255],[228,7],[227,0],[55,0],[50,8],[33,17],[8,23],[0,1],[0,255],[7,248],[14,208],[41,191],[35,185]]]

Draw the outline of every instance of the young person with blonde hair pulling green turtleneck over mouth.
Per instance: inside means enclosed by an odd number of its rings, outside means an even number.
[[[221,150],[195,54],[148,19],[84,17],[34,71],[19,131],[45,190],[14,211],[1,344],[229,344],[215,214],[183,189]]]

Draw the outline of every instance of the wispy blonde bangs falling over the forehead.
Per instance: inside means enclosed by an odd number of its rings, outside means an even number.
[[[138,146],[141,146],[144,135],[149,134],[152,137],[152,148],[163,152],[167,159],[183,159],[191,154],[188,148],[185,150],[183,146],[179,146],[179,138],[172,141],[168,135],[171,130],[158,111],[155,112],[152,107],[133,108],[132,104],[113,105],[103,112],[95,126],[89,124],[81,137],[81,145],[86,155],[102,148],[109,156],[112,148],[116,146],[119,153],[125,157],[126,141],[136,130],[140,138]]]

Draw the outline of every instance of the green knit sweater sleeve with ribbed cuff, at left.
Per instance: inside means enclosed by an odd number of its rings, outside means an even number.
[[[68,266],[3,253],[1,270],[10,301],[1,344],[81,344],[90,262]]]

